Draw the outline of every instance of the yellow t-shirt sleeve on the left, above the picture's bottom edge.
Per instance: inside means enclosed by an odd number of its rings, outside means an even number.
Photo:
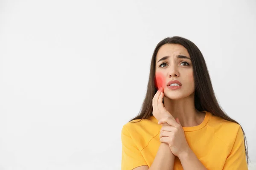
[[[131,138],[129,131],[125,126],[122,127],[122,163],[121,170],[132,170],[135,167],[147,165],[140,150]]]

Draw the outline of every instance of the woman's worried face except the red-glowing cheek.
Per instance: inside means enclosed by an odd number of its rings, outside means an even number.
[[[182,45],[165,44],[159,49],[155,73],[163,75],[164,95],[169,99],[185,98],[195,91],[192,61],[188,51]],[[167,87],[171,80],[178,80],[181,86]]]

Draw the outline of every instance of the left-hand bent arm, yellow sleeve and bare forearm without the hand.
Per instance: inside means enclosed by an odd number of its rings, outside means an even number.
[[[172,170],[175,156],[172,154],[168,144],[160,144],[157,155],[149,168],[125,126],[122,128],[121,138],[122,170]]]

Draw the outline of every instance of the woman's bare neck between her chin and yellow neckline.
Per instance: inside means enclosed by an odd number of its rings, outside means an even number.
[[[163,97],[164,106],[174,118],[180,120],[183,127],[200,125],[204,121],[205,113],[195,108],[194,94],[182,99],[169,99]]]

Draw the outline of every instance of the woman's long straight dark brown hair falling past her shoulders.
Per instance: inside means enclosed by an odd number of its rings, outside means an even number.
[[[157,58],[156,56],[160,47],[165,44],[183,45],[187,49],[189,56],[191,57],[193,75],[194,75],[194,81],[195,81],[195,108],[198,111],[207,111],[212,113],[212,115],[215,115],[222,119],[228,120],[230,122],[235,122],[239,124],[238,122],[236,122],[235,120],[227,116],[227,114],[224,113],[223,109],[218,104],[218,101],[215,97],[215,93],[212,88],[212,82],[208,73],[207,65],[201,51],[190,40],[187,40],[183,37],[177,37],[177,36],[165,38],[164,40],[160,41],[157,44],[156,48],[154,49],[154,53],[153,53],[153,56],[151,59],[151,65],[150,65],[150,74],[148,79],[147,93],[145,95],[142,108],[140,109],[140,113],[138,114],[138,116],[131,119],[130,122],[136,119],[141,119],[141,120],[148,119],[150,116],[153,116],[152,99],[157,92],[157,88],[154,83],[155,64],[156,64],[156,58]],[[248,157],[248,149],[247,149],[247,139],[242,127],[241,129],[244,134],[244,141],[245,141],[244,147],[245,147],[245,153],[246,153],[246,158],[248,163],[249,157]]]

